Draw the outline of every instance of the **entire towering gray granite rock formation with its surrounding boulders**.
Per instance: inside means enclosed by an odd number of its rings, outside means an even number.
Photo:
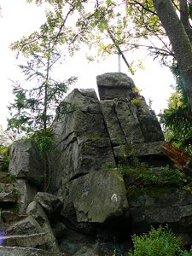
[[[32,144],[12,146],[11,175],[0,172],[3,255],[105,256],[114,249],[127,255],[132,234],[160,224],[192,244],[190,192],[130,189],[118,169],[132,150],[154,172],[172,164],[161,151],[164,137],[154,112],[126,74],[96,80],[100,100],[94,90],[75,89],[64,100],[67,114],[57,116],[49,193],[41,190],[41,162]]]

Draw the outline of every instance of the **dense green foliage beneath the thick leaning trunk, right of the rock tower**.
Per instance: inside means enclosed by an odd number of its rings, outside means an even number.
[[[177,85],[175,92],[168,100],[168,108],[160,114],[160,122],[164,127],[166,140],[171,140],[174,146],[192,152],[192,127],[188,113],[188,101],[183,81],[177,65],[172,66]]]

